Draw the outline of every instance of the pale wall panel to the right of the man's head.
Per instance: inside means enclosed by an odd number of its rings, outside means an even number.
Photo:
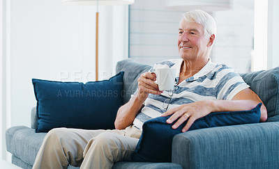
[[[230,3],[229,10],[213,12],[217,35],[212,61],[234,67],[236,72],[248,72],[254,38],[254,0],[231,0]]]

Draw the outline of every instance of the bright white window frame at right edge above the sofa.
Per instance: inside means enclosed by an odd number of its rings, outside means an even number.
[[[279,66],[277,0],[255,0],[255,39],[252,71]]]

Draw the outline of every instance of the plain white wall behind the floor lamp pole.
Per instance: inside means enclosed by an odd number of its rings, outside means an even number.
[[[32,78],[95,80],[96,6],[68,6],[59,0],[9,2],[10,42],[1,47],[8,50],[4,58],[10,60],[4,72],[10,71],[10,86],[3,89],[10,88],[10,111],[1,115],[11,116],[10,126],[30,127],[31,108],[36,106]],[[117,61],[128,58],[128,6],[100,6],[99,12],[102,80],[114,74]],[[4,152],[6,147],[2,148]]]

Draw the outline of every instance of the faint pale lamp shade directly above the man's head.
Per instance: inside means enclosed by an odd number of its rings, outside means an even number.
[[[200,9],[206,12],[216,10],[228,10],[230,8],[230,0],[165,0],[165,7],[172,10],[195,10]]]

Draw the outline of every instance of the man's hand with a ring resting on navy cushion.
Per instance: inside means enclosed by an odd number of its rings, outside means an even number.
[[[195,120],[202,118],[212,112],[212,105],[210,100],[204,100],[199,102],[194,102],[190,104],[183,104],[176,108],[172,108],[166,111],[162,116],[172,115],[167,123],[172,124],[175,120],[176,123],[172,125],[172,129],[177,129],[183,122],[188,120],[185,127],[183,127],[182,132],[188,131]]]

